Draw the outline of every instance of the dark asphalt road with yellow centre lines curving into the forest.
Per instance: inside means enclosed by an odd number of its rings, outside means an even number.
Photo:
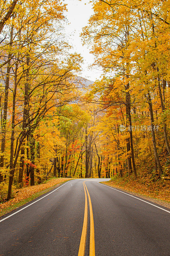
[[[70,180],[2,216],[0,256],[169,256],[170,210],[102,180]]]

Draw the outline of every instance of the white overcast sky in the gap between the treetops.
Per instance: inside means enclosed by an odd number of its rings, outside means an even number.
[[[66,18],[70,23],[65,27],[65,34],[69,44],[73,46],[72,52],[80,53],[84,59],[82,72],[78,75],[95,81],[99,79],[102,71],[96,68],[89,68],[94,62],[94,56],[90,53],[90,48],[87,48],[87,45],[82,45],[80,38],[82,28],[87,25],[90,16],[93,14],[92,3],[89,3],[89,0],[64,0],[64,3],[67,4],[68,12],[66,12]]]

